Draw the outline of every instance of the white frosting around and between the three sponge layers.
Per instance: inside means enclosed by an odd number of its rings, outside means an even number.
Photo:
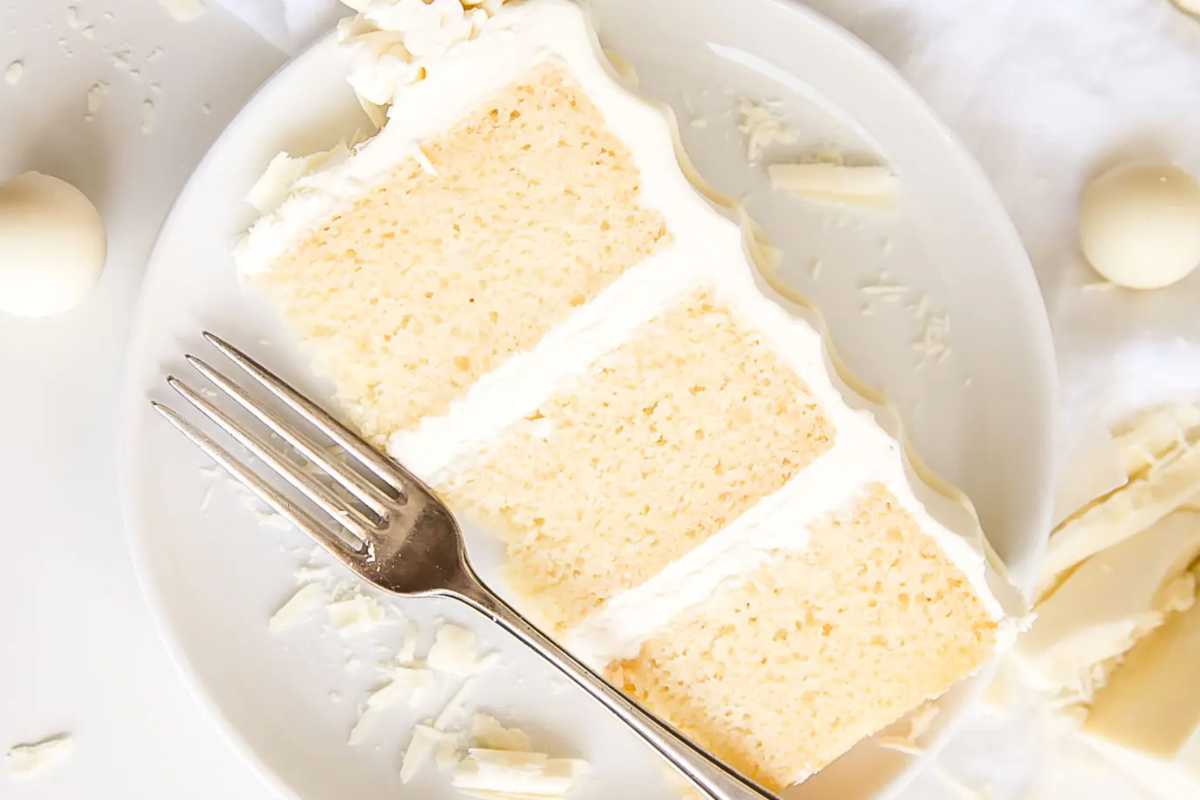
[[[521,423],[564,381],[628,341],[638,325],[666,311],[683,293],[707,287],[804,379],[836,431],[835,446],[658,576],[611,599],[572,633],[571,644],[594,664],[636,651],[653,630],[709,596],[720,583],[745,575],[773,553],[804,547],[805,525],[847,509],[869,483],[888,488],[967,576],[988,612],[1003,619],[988,588],[978,529],[973,529],[974,541],[955,534],[929,507],[942,504],[943,513],[950,509],[971,517],[964,529],[973,525],[973,516],[920,483],[900,444],[871,413],[847,403],[852,395],[832,378],[822,335],[797,306],[761,283],[739,225],[704,200],[676,160],[664,158],[674,149],[667,115],[616,79],[575,4],[527,0],[504,6],[481,35],[448,47],[427,65],[422,80],[396,90],[389,122],[374,139],[344,163],[306,175],[278,210],[254,225],[239,249],[239,269],[269,269],[322,216],[419,152],[424,139],[448,130],[488,95],[551,58],[565,64],[610,130],[630,149],[642,176],[641,200],[662,213],[673,241],[572,312],[532,351],[484,375],[446,414],[394,437],[389,452],[437,482],[462,469],[473,453],[510,425]]]

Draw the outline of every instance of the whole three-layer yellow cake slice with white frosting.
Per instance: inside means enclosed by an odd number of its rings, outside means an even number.
[[[522,610],[776,789],[989,658],[973,515],[575,4],[372,2],[342,38],[386,122],[272,162],[238,265],[349,419],[506,545]]]

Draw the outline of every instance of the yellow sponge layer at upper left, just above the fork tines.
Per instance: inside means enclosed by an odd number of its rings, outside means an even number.
[[[668,240],[629,150],[558,62],[421,152],[252,278],[377,445]]]

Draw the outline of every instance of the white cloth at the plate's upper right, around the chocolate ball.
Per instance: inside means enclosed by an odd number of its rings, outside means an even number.
[[[1094,452],[1135,408],[1200,396],[1200,275],[1150,293],[1084,289],[1100,277],[1075,218],[1088,178],[1123,158],[1200,174],[1200,23],[1169,0],[809,5],[890,60],[1000,192],[1054,325],[1063,451]]]

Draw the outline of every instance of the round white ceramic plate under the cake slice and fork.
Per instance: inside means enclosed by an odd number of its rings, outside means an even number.
[[[647,92],[674,107],[701,173],[746,198],[785,253],[782,273],[824,311],[845,360],[887,391],[918,452],[971,494],[998,552],[1027,577],[1049,516],[1051,347],[1025,253],[980,170],[878,56],[797,5],[594,5],[602,41],[637,70]],[[204,351],[202,329],[328,397],[271,311],[239,288],[229,253],[253,216],[241,198],[275,152],[322,149],[366,126],[343,74],[326,38],[275,76],[214,145],[163,227],[130,354],[124,507],[146,594],[187,680],[275,787],[314,800],[450,798],[432,766],[407,787],[397,770],[409,724],[434,714],[454,686],[439,686],[426,708],[397,711],[368,742],[349,747],[358,706],[379,679],[373,664],[398,631],[342,639],[313,621],[269,634],[266,620],[293,590],[292,572],[310,543],[260,524],[146,404],[169,393],[163,374],[186,369],[186,350]],[[836,144],[888,162],[902,180],[900,209],[862,215],[772,196],[762,169],[746,164],[738,97],[776,102],[802,132],[773,156]],[[864,313],[860,287],[881,270],[912,290],[905,303],[877,302]],[[952,323],[950,357],[924,367],[906,308],[920,294]],[[490,572],[496,546],[475,537],[472,547]],[[433,601],[403,609],[426,631],[438,615],[470,619]],[[520,723],[553,753],[588,758],[595,772],[572,796],[673,796],[631,735],[535,657],[480,630],[504,658],[472,705]],[[948,710],[942,721],[954,716]],[[839,794],[824,796],[866,796],[898,786],[893,778],[907,765],[898,753],[864,747],[799,794],[835,784]]]

